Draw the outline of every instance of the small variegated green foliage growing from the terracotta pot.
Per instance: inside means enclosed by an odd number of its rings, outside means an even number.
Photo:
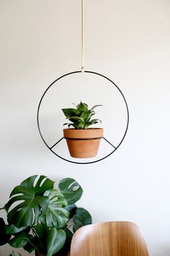
[[[92,119],[92,116],[96,114],[94,108],[102,105],[95,105],[90,109],[86,103],[80,102],[78,105],[74,105],[76,108],[62,108],[66,119],[71,121],[71,123],[65,123],[63,125],[68,124],[68,127],[72,126],[76,129],[88,129],[92,124],[102,122],[99,119]]]

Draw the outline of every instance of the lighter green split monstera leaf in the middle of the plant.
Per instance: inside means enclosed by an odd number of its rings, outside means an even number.
[[[48,227],[64,228],[68,221],[69,212],[64,206],[67,205],[66,199],[61,192],[56,189],[48,190],[44,193],[45,197],[49,198],[48,210],[41,216],[42,224]]]

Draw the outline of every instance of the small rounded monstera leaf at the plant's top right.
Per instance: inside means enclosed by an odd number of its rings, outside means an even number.
[[[66,198],[68,205],[72,205],[77,202],[83,193],[83,189],[75,179],[66,178],[62,179],[58,184],[61,193]]]

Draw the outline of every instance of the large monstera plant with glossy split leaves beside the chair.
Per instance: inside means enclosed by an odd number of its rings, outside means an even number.
[[[77,208],[83,193],[74,179],[62,179],[58,189],[46,176],[30,176],[12,190],[6,210],[7,223],[0,218],[0,245],[23,247],[35,255],[65,256],[73,233],[91,223],[91,215]]]

